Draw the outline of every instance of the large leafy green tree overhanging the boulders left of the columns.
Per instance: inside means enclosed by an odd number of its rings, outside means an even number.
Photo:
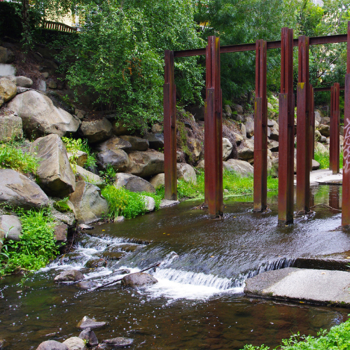
[[[195,2],[103,1],[79,7],[85,25],[76,62],[67,72],[73,87],[97,92],[98,102],[116,109],[125,125],[162,119],[164,50],[204,46],[193,21]],[[71,50],[71,48],[69,48]],[[202,101],[203,69],[197,57],[176,59],[176,92],[183,102]]]

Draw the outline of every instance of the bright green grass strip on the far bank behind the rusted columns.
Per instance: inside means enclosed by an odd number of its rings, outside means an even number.
[[[278,190],[278,179],[267,177],[267,188],[269,191]],[[243,177],[239,174],[223,172],[223,189],[225,197],[253,195],[253,176]],[[177,192],[179,199],[202,199],[204,198],[204,171],[197,171],[197,185],[179,179],[177,182]],[[164,187],[158,188],[157,194],[164,197]]]

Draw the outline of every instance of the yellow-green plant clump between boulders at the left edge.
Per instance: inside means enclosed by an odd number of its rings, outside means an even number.
[[[38,169],[38,160],[34,153],[22,151],[20,142],[8,142],[0,145],[0,168],[35,174]]]

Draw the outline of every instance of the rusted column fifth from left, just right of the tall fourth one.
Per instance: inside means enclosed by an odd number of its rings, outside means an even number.
[[[299,36],[297,83],[297,211],[310,211],[309,38]]]

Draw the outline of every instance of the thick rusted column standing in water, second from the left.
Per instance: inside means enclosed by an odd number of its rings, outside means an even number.
[[[204,118],[204,191],[211,216],[223,215],[223,127],[220,38],[208,37]]]

